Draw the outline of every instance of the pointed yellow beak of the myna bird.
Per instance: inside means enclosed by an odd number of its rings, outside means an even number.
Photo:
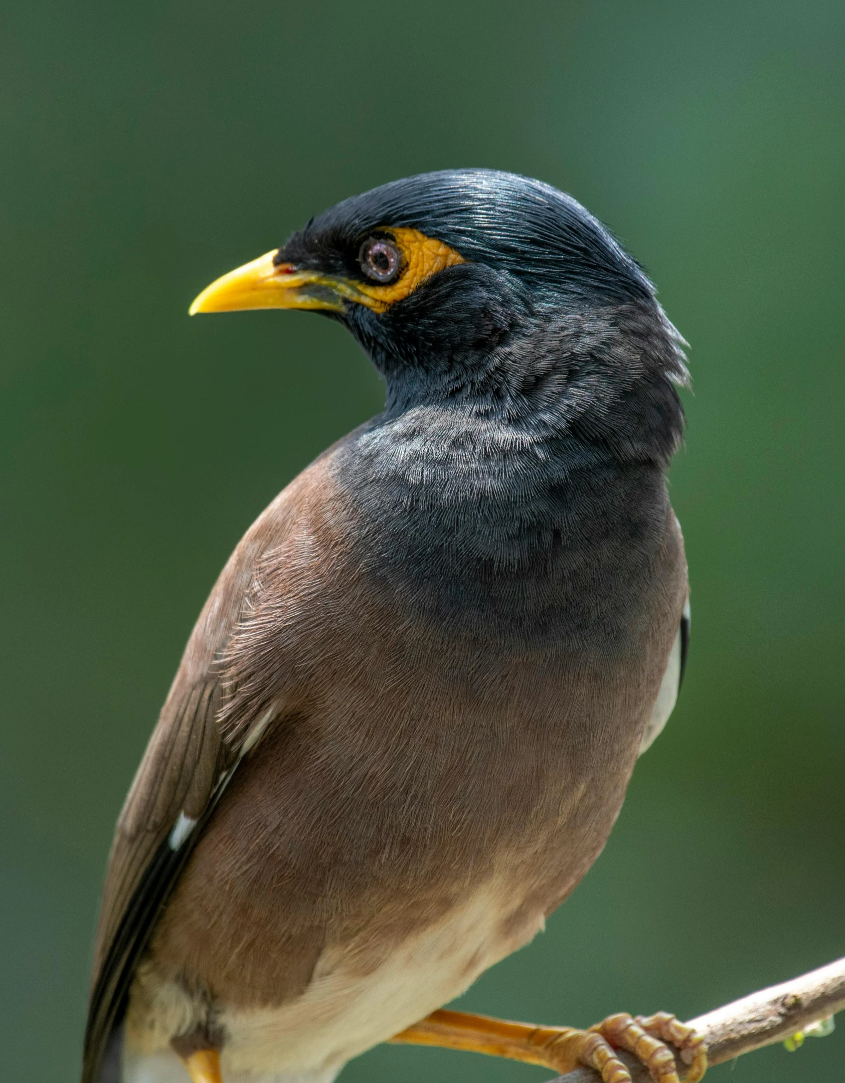
[[[268,252],[251,263],[230,271],[206,286],[187,310],[238,312],[243,309],[328,309],[343,311],[343,297],[355,290],[317,271],[301,271],[292,263],[273,263],[276,252]],[[356,298],[355,298],[356,299]]]

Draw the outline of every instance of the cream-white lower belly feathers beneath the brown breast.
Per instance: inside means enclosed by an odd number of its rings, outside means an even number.
[[[375,963],[372,945],[365,950],[363,942],[329,949],[296,1000],[225,1009],[220,1015],[224,1083],[329,1083],[352,1057],[458,996],[544,927],[540,910],[515,911],[512,896],[508,903],[506,898],[502,885],[487,885]],[[168,1043],[193,1017],[194,1006],[171,983],[144,992],[143,1018],[135,1009],[127,1020],[123,1083],[185,1083]]]

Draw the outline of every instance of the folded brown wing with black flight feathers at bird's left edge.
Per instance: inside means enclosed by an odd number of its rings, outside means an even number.
[[[253,570],[297,521],[303,485],[294,483],[235,549],[188,640],[115,832],[94,948],[82,1083],[96,1083],[126,1008],[138,961],[204,822],[258,738],[237,719],[220,726],[218,662],[243,616]]]

